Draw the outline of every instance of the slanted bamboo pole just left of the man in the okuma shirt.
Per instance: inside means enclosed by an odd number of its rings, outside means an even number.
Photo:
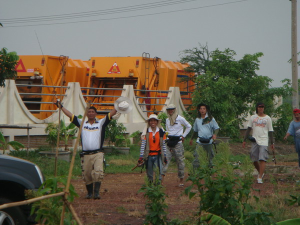
[[[77,146],[78,146],[79,138],[80,138],[80,135],[81,135],[81,129],[82,129],[84,119],[86,117],[87,110],[88,110],[89,106],[90,106],[90,102],[88,102],[86,107],[85,107],[85,111],[84,111],[84,114],[83,114],[83,117],[82,117],[82,120],[81,120],[81,123],[80,123],[80,127],[79,127],[79,130],[78,130],[76,142],[75,142],[74,149],[73,149],[72,159],[71,159],[71,163],[70,163],[70,167],[69,167],[69,172],[68,172],[68,176],[67,176],[67,181],[66,181],[66,185],[65,185],[65,189],[64,189],[66,191],[65,194],[64,194],[64,199],[67,198],[67,192],[68,192],[68,189],[69,189],[69,186],[70,186],[71,175],[72,175],[72,170],[73,170],[73,166],[74,166]],[[60,225],[63,225],[64,212],[65,212],[65,204],[62,207],[62,212],[61,212],[61,217],[60,217]]]

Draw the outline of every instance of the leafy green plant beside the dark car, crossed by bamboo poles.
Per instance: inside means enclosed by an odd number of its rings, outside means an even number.
[[[43,196],[46,194],[59,193],[66,186],[66,177],[53,177],[46,179],[37,191],[27,191],[28,198]],[[72,202],[74,197],[78,196],[74,187],[70,185],[67,195],[67,201]],[[51,197],[35,201],[32,203],[31,214],[35,213],[35,221],[40,224],[59,224],[63,207],[63,196]],[[66,207],[63,224],[76,224],[72,220],[72,215]]]

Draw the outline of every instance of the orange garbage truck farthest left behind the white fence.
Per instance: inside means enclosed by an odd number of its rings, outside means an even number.
[[[17,71],[16,84],[47,85],[49,87],[25,87],[17,86],[20,93],[36,93],[36,95],[21,94],[23,101],[53,102],[54,99],[63,98],[65,88],[53,86],[65,86],[68,82],[80,82],[87,85],[89,61],[73,60],[50,55],[19,55],[19,61],[15,66]],[[62,65],[64,72],[62,73]],[[47,93],[55,95],[40,95]],[[25,103],[28,109],[55,110],[52,103]],[[47,118],[52,112],[32,112],[39,119]]]

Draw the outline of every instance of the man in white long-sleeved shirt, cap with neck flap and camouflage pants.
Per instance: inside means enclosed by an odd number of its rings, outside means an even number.
[[[178,115],[176,106],[174,104],[169,104],[166,107],[167,119],[165,120],[165,128],[167,131],[167,140],[166,140],[166,158],[167,163],[163,166],[163,174],[166,173],[168,165],[172,156],[174,156],[177,163],[177,171],[179,180],[179,187],[184,187],[183,178],[184,178],[184,148],[182,142],[184,138],[189,133],[191,125],[186,119]],[[183,129],[185,130],[183,132]],[[164,175],[162,175],[163,181]],[[161,181],[161,182],[162,182]]]

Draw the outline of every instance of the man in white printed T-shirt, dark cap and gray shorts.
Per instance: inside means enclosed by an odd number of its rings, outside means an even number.
[[[262,183],[262,178],[264,176],[264,169],[266,160],[268,159],[268,137],[270,136],[271,148],[274,149],[273,140],[273,127],[271,118],[264,114],[264,104],[258,102],[256,104],[256,114],[251,115],[250,120],[247,124],[248,128],[246,130],[242,147],[245,147],[246,139],[252,131],[252,146],[250,149],[250,158],[258,171],[257,183]]]

